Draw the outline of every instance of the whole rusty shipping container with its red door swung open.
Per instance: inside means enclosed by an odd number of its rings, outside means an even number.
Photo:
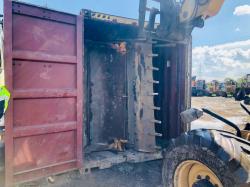
[[[161,159],[190,105],[191,39],[138,38],[136,20],[4,0],[5,185]],[[125,151],[111,152],[115,141]],[[123,147],[123,146],[122,146]],[[101,156],[100,156],[101,155]]]

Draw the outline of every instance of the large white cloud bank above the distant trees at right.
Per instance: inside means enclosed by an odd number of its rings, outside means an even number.
[[[210,80],[250,73],[250,40],[193,49],[193,75]]]

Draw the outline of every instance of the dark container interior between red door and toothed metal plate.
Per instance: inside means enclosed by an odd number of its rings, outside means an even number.
[[[85,20],[85,146],[103,149],[128,139],[127,63],[134,26]],[[120,45],[124,45],[121,51]],[[128,51],[127,51],[128,50]]]

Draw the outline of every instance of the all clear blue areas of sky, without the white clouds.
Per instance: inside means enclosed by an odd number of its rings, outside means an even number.
[[[3,1],[3,0],[1,0]],[[23,0],[24,2],[78,14],[81,8],[115,14],[125,17],[138,17],[139,0]],[[150,0],[149,0],[150,2]],[[2,12],[2,4],[0,12]],[[237,6],[250,4],[249,0],[225,0],[221,12],[206,22],[203,29],[193,32],[193,45],[216,45],[250,38],[250,15],[235,16]],[[155,3],[149,6],[156,6]],[[238,28],[238,29],[237,29]],[[237,31],[236,31],[237,29]]]

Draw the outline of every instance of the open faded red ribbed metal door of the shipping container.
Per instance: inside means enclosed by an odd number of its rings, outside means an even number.
[[[82,26],[4,1],[6,186],[82,167]]]

